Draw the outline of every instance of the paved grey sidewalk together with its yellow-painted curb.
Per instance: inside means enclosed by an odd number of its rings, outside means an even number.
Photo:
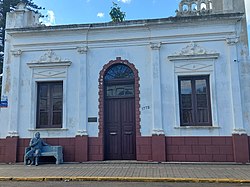
[[[0,180],[250,183],[250,165],[123,161],[39,166],[1,164]]]

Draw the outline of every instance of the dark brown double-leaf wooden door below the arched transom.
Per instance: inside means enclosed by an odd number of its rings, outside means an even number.
[[[107,160],[134,160],[135,99],[112,98],[105,101],[105,155]]]

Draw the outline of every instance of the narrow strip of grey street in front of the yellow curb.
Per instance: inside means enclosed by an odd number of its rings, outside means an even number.
[[[0,187],[201,187],[200,183],[142,182],[0,182]],[[202,187],[249,187],[250,184],[203,183]]]

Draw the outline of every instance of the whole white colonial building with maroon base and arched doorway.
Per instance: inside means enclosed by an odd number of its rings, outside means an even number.
[[[44,26],[8,13],[0,162],[35,132],[65,162],[249,162],[244,0],[182,0],[175,17]]]

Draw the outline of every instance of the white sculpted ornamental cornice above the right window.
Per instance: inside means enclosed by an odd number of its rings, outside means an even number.
[[[180,52],[176,52],[168,56],[170,61],[173,60],[193,60],[193,59],[217,59],[220,56],[215,51],[207,51],[198,44],[191,42],[186,47],[182,48]]]

